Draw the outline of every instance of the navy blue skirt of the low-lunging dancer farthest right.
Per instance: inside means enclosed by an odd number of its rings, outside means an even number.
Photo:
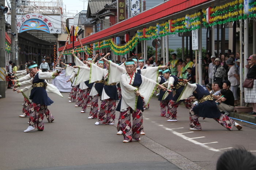
[[[199,103],[198,105],[192,108],[193,112],[203,118],[218,118],[221,116],[221,112],[219,111],[214,100],[206,100],[203,103]]]

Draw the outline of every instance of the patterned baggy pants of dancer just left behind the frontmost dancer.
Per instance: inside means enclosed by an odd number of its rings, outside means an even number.
[[[116,100],[105,99],[101,101],[98,122],[102,124],[113,123],[116,118]]]

